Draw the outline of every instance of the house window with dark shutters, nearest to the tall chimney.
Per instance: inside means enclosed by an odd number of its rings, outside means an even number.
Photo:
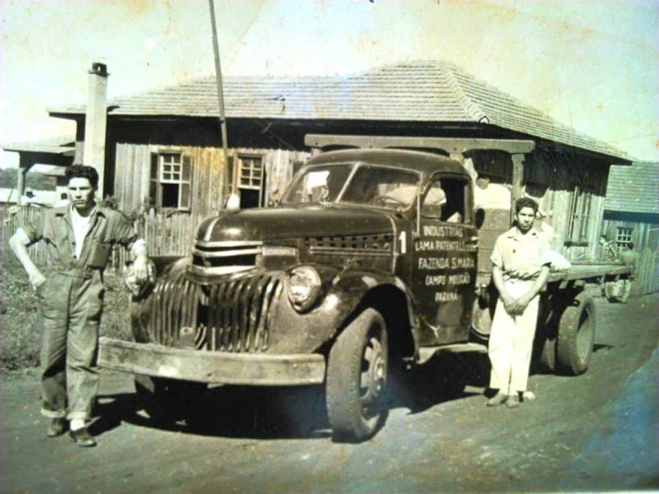
[[[181,153],[151,155],[149,199],[155,207],[190,209],[192,158]]]

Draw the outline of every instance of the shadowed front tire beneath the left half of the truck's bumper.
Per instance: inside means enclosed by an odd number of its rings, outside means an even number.
[[[136,376],[138,404],[157,423],[174,423],[194,415],[208,385],[164,377]]]

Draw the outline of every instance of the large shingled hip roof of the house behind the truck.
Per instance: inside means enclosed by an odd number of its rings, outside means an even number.
[[[402,62],[332,77],[224,78],[227,117],[446,121],[492,124],[542,139],[629,160],[627,154],[581,134],[459,67],[436,60]],[[214,77],[108,104],[111,115],[217,117]],[[51,113],[84,113],[83,106]]]

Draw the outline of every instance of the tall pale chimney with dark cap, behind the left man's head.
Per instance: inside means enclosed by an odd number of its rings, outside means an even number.
[[[105,137],[108,99],[108,70],[105,64],[93,62],[87,76],[87,109],[84,119],[82,162],[98,172],[97,197],[104,196]]]

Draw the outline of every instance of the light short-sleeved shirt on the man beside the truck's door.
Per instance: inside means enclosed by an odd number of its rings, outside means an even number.
[[[540,268],[551,264],[546,237],[535,229],[526,235],[513,226],[496,239],[492,264],[500,268],[504,279],[535,279]]]

